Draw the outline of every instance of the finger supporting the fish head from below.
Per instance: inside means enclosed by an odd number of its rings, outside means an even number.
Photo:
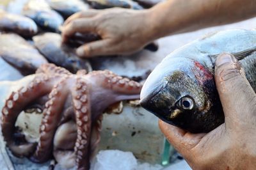
[[[205,136],[205,134],[191,134],[162,120],[159,120],[159,128],[166,139],[182,155],[188,155],[188,151],[194,148]]]

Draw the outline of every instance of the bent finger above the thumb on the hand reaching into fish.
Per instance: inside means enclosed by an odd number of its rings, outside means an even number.
[[[62,38],[63,42],[66,42],[68,37],[74,35],[75,33],[95,33],[97,24],[95,20],[92,19],[76,19],[72,20],[67,26],[63,27]]]

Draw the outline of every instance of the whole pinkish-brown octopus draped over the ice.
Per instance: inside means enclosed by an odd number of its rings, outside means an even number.
[[[72,74],[53,64],[44,64],[34,75],[24,77],[25,86],[13,90],[2,109],[1,130],[13,155],[36,163],[52,156],[60,162],[89,169],[100,141],[102,112],[121,100],[138,99],[139,82],[108,70]],[[20,112],[42,111],[38,141],[26,141],[15,128]],[[64,155],[64,156],[63,156]]]

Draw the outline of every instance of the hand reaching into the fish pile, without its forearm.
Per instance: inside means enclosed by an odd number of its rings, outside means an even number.
[[[95,33],[102,40],[77,49],[81,57],[129,54],[143,49],[150,42],[147,10],[87,10],[69,17],[63,27],[63,42],[75,33]]]

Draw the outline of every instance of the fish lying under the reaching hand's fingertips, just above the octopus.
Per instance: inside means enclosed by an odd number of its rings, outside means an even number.
[[[67,68],[72,73],[84,69],[92,71],[92,67],[87,59],[78,58],[74,49],[68,45],[61,44],[61,36],[57,33],[44,33],[33,36],[36,48],[51,63]]]

